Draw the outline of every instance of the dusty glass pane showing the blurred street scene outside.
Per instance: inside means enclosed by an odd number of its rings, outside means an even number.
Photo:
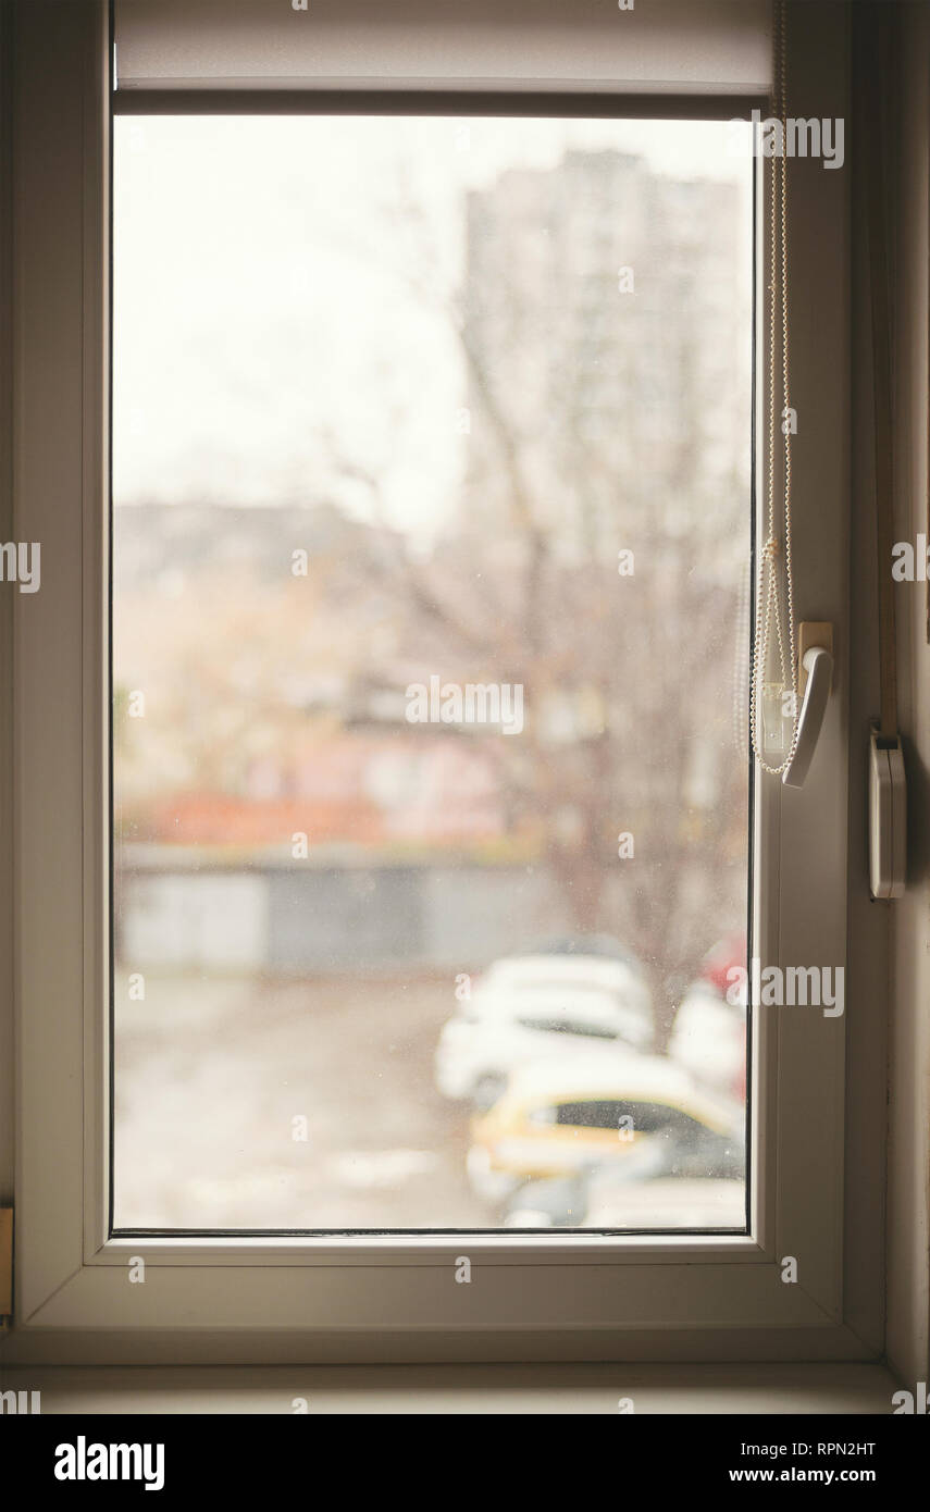
[[[752,262],[726,122],[116,118],[116,1228],[742,1228]]]

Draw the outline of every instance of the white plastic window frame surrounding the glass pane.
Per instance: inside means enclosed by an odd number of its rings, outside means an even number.
[[[800,113],[845,116],[845,17],[820,0],[803,11],[803,47],[800,24],[789,38]],[[882,1232],[885,1131],[844,1107],[847,1064],[870,1066],[880,1045],[847,953],[848,163],[791,165],[795,609],[833,621],[836,682],[806,786],[756,779],[753,857],[753,953],[770,965],[842,965],[847,1012],[753,1013],[752,1234],[112,1238],[107,6],[18,6],[14,57],[14,538],[42,543],[42,585],[14,596],[8,1359],[876,1358],[882,1275],[865,1235]],[[659,113],[674,110],[661,101]],[[697,100],[680,110],[739,113]],[[644,113],[643,101],[628,113]],[[764,219],[765,194],[758,212]],[[765,354],[762,268],[758,287]],[[759,381],[759,437],[764,393]],[[844,1181],[844,1149],[854,1182]],[[136,1255],[144,1285],[129,1284]],[[470,1285],[454,1281],[460,1255],[472,1259]],[[782,1279],[788,1255],[797,1284]]]

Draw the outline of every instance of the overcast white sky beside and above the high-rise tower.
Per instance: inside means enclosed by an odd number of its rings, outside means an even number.
[[[116,502],[310,503],[325,423],[384,479],[389,516],[428,534],[455,493],[464,395],[402,272],[431,245],[452,287],[463,191],[569,147],[739,183],[749,218],[750,159],[723,122],[118,116]]]

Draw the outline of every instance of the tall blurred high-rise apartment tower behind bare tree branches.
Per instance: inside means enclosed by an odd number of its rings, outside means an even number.
[[[615,559],[688,535],[726,556],[749,481],[746,213],[732,183],[615,150],[470,194],[475,525],[514,519],[511,446],[567,552]]]

